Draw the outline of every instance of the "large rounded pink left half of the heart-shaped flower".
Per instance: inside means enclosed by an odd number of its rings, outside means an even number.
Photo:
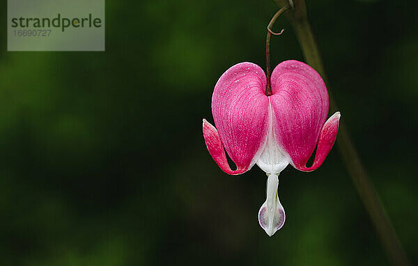
[[[239,63],[222,74],[213,91],[215,126],[238,169],[251,169],[267,140],[269,100],[265,86],[261,67]]]

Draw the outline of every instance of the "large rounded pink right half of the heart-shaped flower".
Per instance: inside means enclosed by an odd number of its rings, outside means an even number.
[[[309,65],[288,60],[274,69],[271,84],[274,136],[291,156],[292,165],[297,169],[307,169],[304,165],[314,152],[327,118],[325,83]],[[321,153],[318,158],[325,158],[327,153]],[[319,167],[322,162],[318,161],[315,166]]]

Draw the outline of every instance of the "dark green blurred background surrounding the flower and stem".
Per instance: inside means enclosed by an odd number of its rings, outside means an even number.
[[[272,238],[257,222],[265,174],[228,176],[206,149],[217,78],[265,66],[273,1],[107,1],[105,52],[7,52],[2,3],[0,265],[388,265],[336,148],[315,172],[282,172]],[[307,6],[328,88],[418,263],[418,2]],[[303,60],[288,21],[274,28],[272,65]]]

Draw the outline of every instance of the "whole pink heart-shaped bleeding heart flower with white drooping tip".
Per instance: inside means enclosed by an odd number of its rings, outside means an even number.
[[[254,164],[266,172],[267,199],[258,222],[271,236],[285,220],[277,195],[278,175],[289,163],[304,172],[317,169],[334,144],[340,113],[325,122],[327,88],[309,65],[284,61],[274,69],[270,82],[272,94],[267,96],[261,67],[239,63],[228,69],[212,95],[217,129],[203,119],[203,136],[210,155],[227,174],[242,174]],[[315,147],[314,163],[307,167]],[[237,169],[229,167],[224,149]]]

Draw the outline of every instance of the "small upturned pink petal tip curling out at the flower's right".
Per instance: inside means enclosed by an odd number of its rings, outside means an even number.
[[[325,157],[327,157],[328,153],[330,153],[332,145],[334,145],[340,117],[340,113],[336,112],[327,120],[327,122],[325,122],[322,130],[320,131],[318,147],[316,148],[315,160],[312,166],[306,167],[307,162],[300,161],[294,163],[297,169],[304,172],[311,172],[322,165]]]

